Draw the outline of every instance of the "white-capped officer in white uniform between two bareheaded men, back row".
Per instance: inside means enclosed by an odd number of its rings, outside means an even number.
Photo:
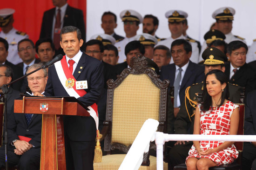
[[[123,21],[123,27],[125,31],[125,38],[115,43],[116,48],[119,52],[118,63],[123,63],[126,61],[126,55],[124,49],[126,44],[135,40],[137,30],[139,29],[139,24],[142,23],[142,16],[140,13],[134,10],[123,10],[120,13],[120,18]]]

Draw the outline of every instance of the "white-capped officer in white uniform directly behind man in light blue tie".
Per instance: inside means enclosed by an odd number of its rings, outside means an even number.
[[[197,43],[195,42],[194,39],[188,39],[183,36],[183,30],[185,28],[185,19],[188,17],[188,13],[181,11],[181,10],[170,10],[165,13],[165,17],[168,18],[168,23],[169,23],[169,30],[171,32],[171,37],[159,41],[158,45],[165,45],[168,48],[171,47],[172,42],[175,39],[187,39],[189,43],[192,46],[192,55],[190,57],[190,60],[193,63],[198,63],[199,62],[199,49],[197,47]],[[173,58],[171,58],[171,62],[173,62]]]

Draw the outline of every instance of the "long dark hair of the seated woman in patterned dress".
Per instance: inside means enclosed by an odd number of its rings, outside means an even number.
[[[226,83],[226,87],[223,89],[222,96],[221,96],[221,103],[218,107],[222,106],[225,99],[229,100],[229,79],[228,77],[218,69],[214,69],[207,73],[205,75],[204,84],[203,84],[203,92],[202,92],[202,102],[201,102],[201,110],[202,111],[208,111],[210,107],[212,106],[212,97],[208,94],[207,88],[206,88],[206,78],[209,75],[214,74],[216,76],[216,79],[221,82],[221,84]]]

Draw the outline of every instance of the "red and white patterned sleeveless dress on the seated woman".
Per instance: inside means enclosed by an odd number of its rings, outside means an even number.
[[[229,135],[230,116],[238,105],[235,105],[231,101],[227,101],[219,108],[213,107],[213,109],[211,109],[210,107],[209,111],[206,112],[203,112],[200,109],[201,104],[198,104],[198,107],[200,111],[200,134]],[[223,142],[224,141],[200,141],[200,148],[202,151],[206,149],[213,149],[221,145]],[[231,145],[222,151],[211,153],[206,156],[199,156],[195,146],[192,145],[186,161],[189,157],[206,157],[214,161],[219,166],[223,164],[231,164],[234,159],[238,157],[238,151],[236,150],[235,145]]]

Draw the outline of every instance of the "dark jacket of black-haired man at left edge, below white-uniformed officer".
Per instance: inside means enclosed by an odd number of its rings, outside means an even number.
[[[15,66],[13,63],[8,62],[7,60],[5,61],[5,64],[10,66],[13,69],[13,79],[12,79],[12,81],[20,78],[21,76],[23,76],[23,70],[20,67]],[[22,84],[22,80],[13,83],[12,87],[15,90],[19,90],[21,84]]]

